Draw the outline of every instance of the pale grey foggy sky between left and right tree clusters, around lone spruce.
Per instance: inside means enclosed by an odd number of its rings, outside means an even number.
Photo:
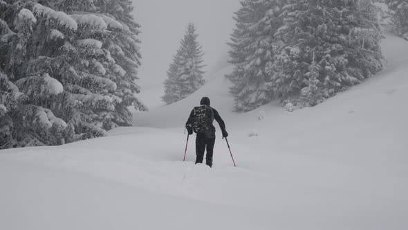
[[[163,86],[166,70],[189,22],[195,24],[205,52],[206,71],[225,64],[239,0],[133,0],[135,19],[142,25],[142,67],[138,83],[143,89]]]

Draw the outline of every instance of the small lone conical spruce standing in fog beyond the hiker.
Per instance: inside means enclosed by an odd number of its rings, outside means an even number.
[[[162,97],[167,104],[186,98],[205,83],[203,51],[201,45],[198,44],[197,37],[194,24],[189,24],[173,63],[170,64],[167,71],[165,95]]]

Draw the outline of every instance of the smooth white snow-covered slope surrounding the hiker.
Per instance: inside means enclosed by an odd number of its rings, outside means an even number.
[[[0,229],[408,229],[408,42],[382,48],[387,69],[313,108],[236,114],[228,67],[105,138],[1,150]],[[213,168],[194,165],[194,137],[183,162],[202,96],[237,168],[219,133]]]

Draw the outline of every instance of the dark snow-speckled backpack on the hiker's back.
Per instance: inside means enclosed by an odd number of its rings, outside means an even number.
[[[194,132],[210,132],[212,121],[214,121],[214,112],[209,105],[194,107],[192,123]]]

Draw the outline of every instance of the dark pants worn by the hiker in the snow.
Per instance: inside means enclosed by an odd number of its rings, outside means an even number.
[[[207,155],[205,155],[205,163],[212,167],[212,152],[214,150],[215,136],[207,137],[203,133],[197,133],[196,136],[196,163],[203,163],[205,148],[207,148]]]

